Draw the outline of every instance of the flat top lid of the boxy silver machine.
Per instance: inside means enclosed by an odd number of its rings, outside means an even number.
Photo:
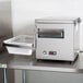
[[[39,24],[73,24],[80,23],[80,17],[45,17],[45,19],[36,19],[36,23]]]

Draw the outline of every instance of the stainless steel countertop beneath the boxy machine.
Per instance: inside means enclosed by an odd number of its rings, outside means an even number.
[[[0,68],[19,70],[40,70],[54,72],[83,73],[83,54],[80,52],[78,60],[73,63],[62,61],[37,61],[34,57],[0,54]]]

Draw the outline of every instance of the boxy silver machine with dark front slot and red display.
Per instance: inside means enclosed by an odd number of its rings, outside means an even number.
[[[36,59],[74,61],[80,50],[81,19],[37,19]]]

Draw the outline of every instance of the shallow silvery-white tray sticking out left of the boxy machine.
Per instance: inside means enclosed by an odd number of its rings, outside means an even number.
[[[34,49],[34,37],[28,35],[20,35],[3,40],[3,44],[9,54],[31,56]]]

